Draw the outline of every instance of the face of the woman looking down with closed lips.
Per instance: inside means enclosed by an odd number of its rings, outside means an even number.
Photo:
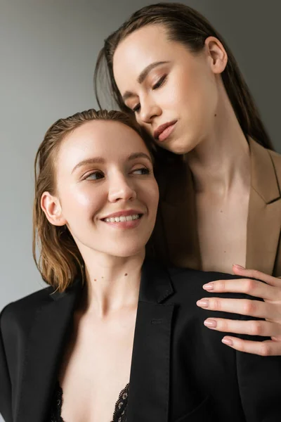
[[[167,39],[161,25],[147,25],[117,46],[113,72],[126,106],[159,146],[188,153],[214,126],[217,77],[226,66],[214,37],[201,53]],[[224,56],[223,56],[224,55]]]

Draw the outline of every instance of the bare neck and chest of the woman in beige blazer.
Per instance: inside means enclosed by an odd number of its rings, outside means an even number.
[[[195,185],[202,269],[230,273],[233,262],[246,264],[250,160],[221,83],[218,98],[214,132],[219,136],[202,141],[186,159]]]

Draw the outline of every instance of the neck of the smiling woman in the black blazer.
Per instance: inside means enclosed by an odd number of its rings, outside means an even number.
[[[91,251],[92,252],[92,251]],[[86,286],[82,307],[103,318],[124,308],[135,308],[141,283],[145,251],[132,257],[103,253],[84,256]]]

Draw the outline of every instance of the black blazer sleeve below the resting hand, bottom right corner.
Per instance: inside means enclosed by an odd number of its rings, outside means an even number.
[[[264,340],[251,338],[251,340]],[[247,422],[281,420],[281,357],[236,352],[237,379]]]

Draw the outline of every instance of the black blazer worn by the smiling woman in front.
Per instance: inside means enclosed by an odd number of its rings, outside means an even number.
[[[128,422],[277,422],[281,359],[245,354],[204,327],[202,284],[226,274],[143,265],[131,362]],[[72,314],[81,292],[48,287],[1,314],[0,411],[6,422],[49,422]],[[235,296],[235,295],[233,295]],[[235,317],[235,316],[234,316]]]

